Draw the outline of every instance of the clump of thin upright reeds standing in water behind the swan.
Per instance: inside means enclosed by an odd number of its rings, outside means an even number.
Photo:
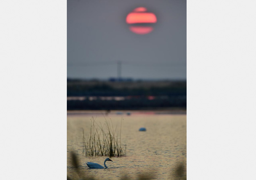
[[[111,122],[111,123],[110,123]],[[83,156],[126,156],[126,144],[121,144],[121,128],[117,130],[117,126],[114,128],[112,121],[108,122],[105,118],[105,122],[96,123],[95,119],[91,119],[90,133],[87,138],[84,137],[83,131]]]

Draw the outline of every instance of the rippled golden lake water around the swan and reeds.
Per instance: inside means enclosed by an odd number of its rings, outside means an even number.
[[[85,137],[90,132],[92,117],[104,124],[104,111],[77,111],[67,113],[67,175],[71,179],[81,179],[71,162],[74,151],[79,160],[79,171],[85,177],[94,179],[137,179],[146,175],[154,179],[186,179],[187,166],[187,116],[184,112],[168,111],[111,111],[105,115],[113,126],[120,130],[121,143],[126,144],[126,157],[111,157],[108,169],[89,169],[85,162],[102,166],[105,156],[86,157],[82,155],[82,129]],[[139,131],[145,127],[146,131]],[[183,166],[182,175],[176,177],[177,167]]]

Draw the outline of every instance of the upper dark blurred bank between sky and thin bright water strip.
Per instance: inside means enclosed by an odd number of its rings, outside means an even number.
[[[186,96],[186,81],[67,81],[67,96]]]

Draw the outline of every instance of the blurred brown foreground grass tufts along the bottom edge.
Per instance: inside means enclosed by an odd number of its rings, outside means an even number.
[[[68,175],[67,175],[67,180],[95,180],[94,177],[85,174],[84,172],[81,172],[80,169],[78,168],[79,166],[79,160],[77,158],[77,155],[74,152],[71,152],[71,162],[74,168],[74,171],[77,173],[79,178],[73,178],[71,179]],[[180,165],[175,169],[175,174],[174,177],[170,177],[170,179],[176,180],[176,179],[181,179],[181,180],[186,180],[187,176],[184,176],[184,163],[180,163]],[[157,179],[155,176],[156,172],[144,172],[141,173],[137,176],[138,180],[143,180],[143,179]],[[170,175],[172,175],[170,173]],[[120,180],[130,180],[129,177],[127,177],[126,175],[124,175],[123,177],[120,178]]]

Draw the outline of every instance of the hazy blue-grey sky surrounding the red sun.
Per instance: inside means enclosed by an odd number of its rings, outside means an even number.
[[[136,7],[157,17],[146,35],[129,30]],[[67,77],[186,79],[185,0],[67,0]]]

